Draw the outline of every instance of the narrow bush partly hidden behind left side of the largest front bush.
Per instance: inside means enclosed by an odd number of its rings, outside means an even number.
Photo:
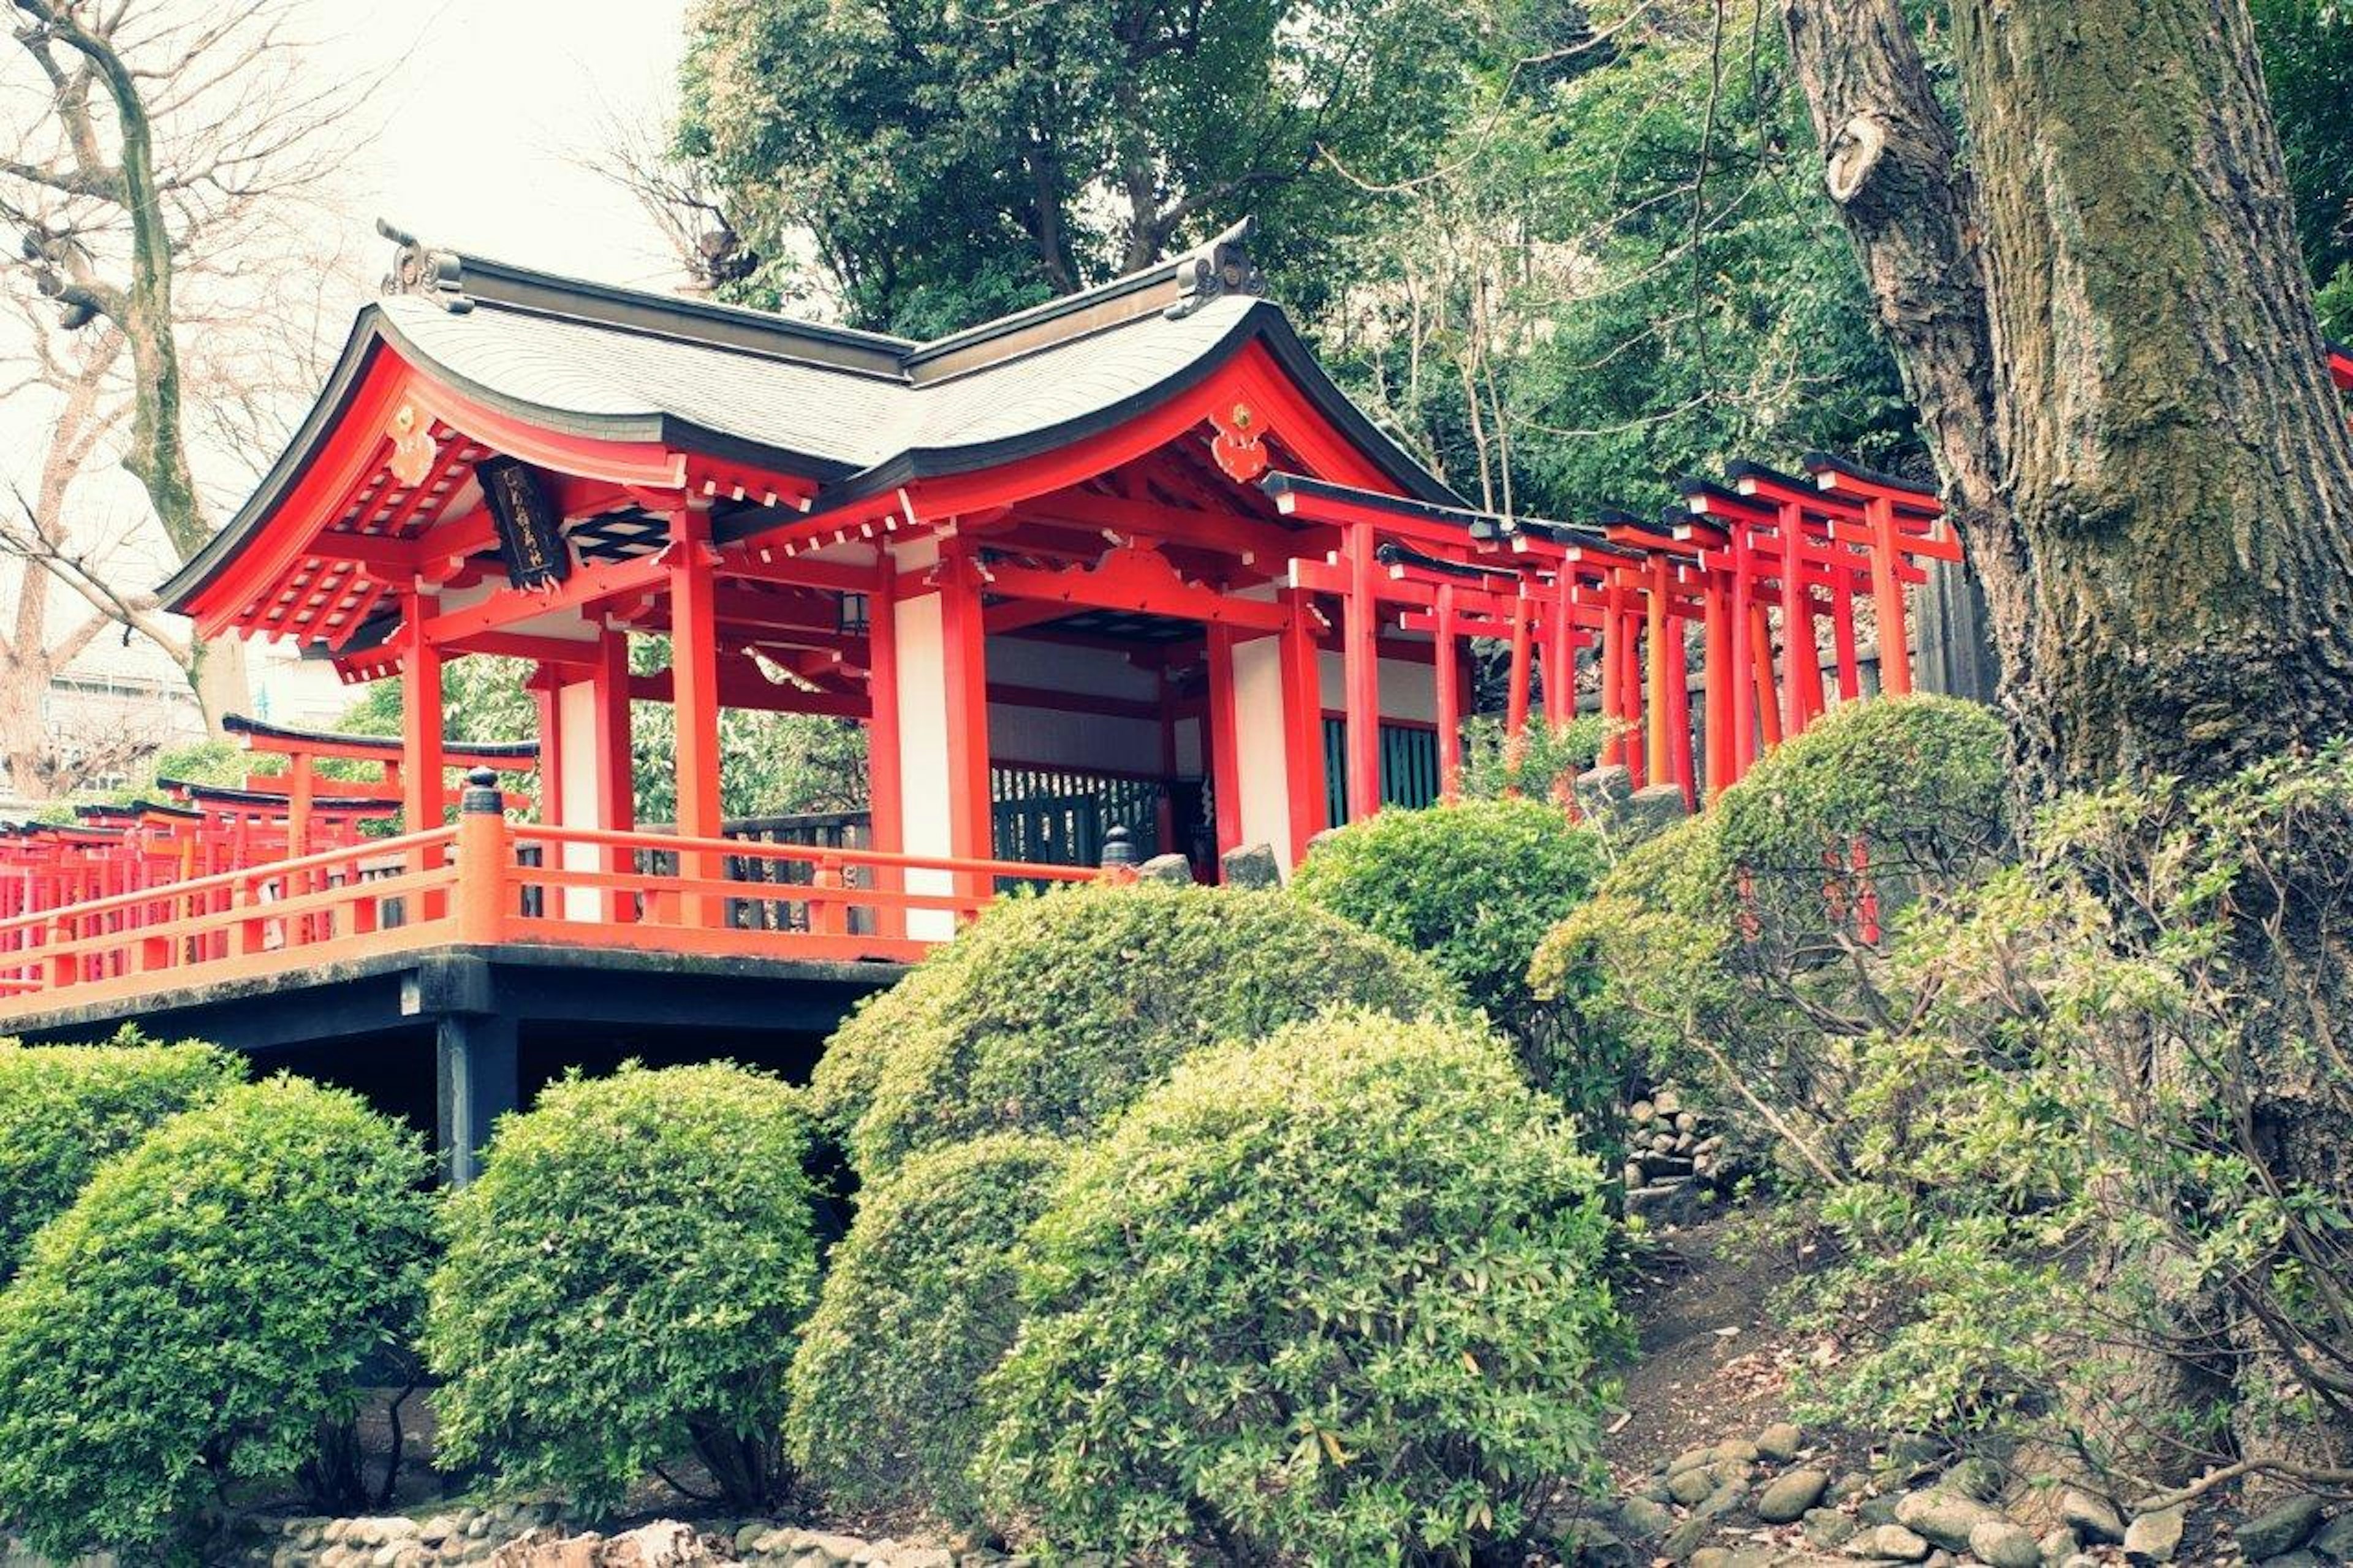
[[[856,1511],[981,1519],[981,1377],[1014,1342],[1014,1243],[1064,1144],[998,1135],[918,1154],[861,1194],[793,1356],[793,1464]]]

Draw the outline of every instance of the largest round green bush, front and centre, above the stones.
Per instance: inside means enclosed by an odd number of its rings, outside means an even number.
[[[1461,1026],[1332,1015],[1179,1067],[1024,1243],[995,1504],[1122,1561],[1511,1542],[1600,1474],[1598,1187]]]

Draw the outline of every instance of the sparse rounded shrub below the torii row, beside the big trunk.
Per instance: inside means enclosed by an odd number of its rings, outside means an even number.
[[[1833,709],[1715,808],[1638,845],[1537,951],[1565,1052],[1612,1038],[1826,1172],[1880,944],[2009,845],[2002,725],[1906,697]]]

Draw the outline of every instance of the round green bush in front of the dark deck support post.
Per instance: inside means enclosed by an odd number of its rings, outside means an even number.
[[[692,1453],[734,1507],[781,1483],[816,1297],[800,1095],[739,1067],[569,1076],[449,1196],[426,1354],[442,1453],[612,1509]]]

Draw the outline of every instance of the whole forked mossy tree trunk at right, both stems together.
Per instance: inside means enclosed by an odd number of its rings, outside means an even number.
[[[2353,727],[2353,440],[2242,0],[1784,0],[2033,793]]]

